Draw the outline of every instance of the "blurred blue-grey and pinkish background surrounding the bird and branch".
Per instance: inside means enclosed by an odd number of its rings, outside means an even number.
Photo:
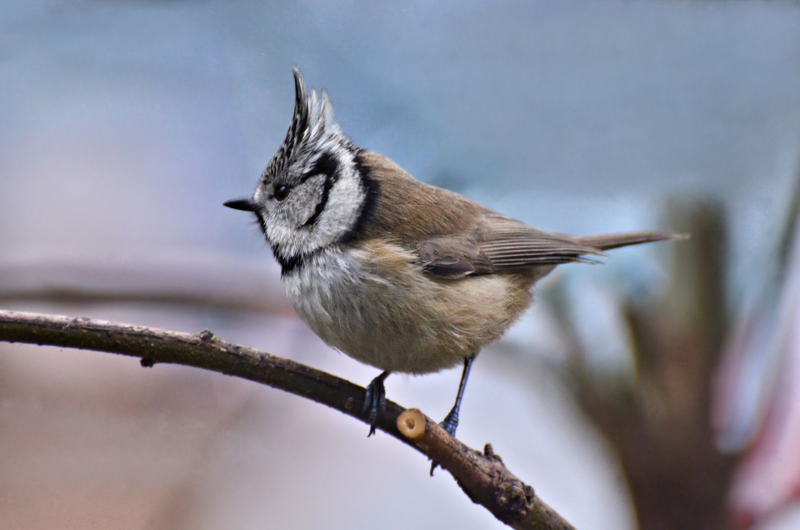
[[[731,303],[769,275],[800,165],[796,2],[4,2],[2,305],[212,327],[369,381],[292,315],[256,227],[221,206],[286,134],[293,64],[354,143],[418,179],[574,234],[664,227],[666,199],[715,197]],[[564,268],[658,289],[667,256]],[[541,369],[559,357],[547,318],[478,360],[460,435],[578,528],[634,528],[613,452]],[[457,372],[387,389],[443,416]],[[497,528],[365,436],[221,375],[0,344],[7,528]]]

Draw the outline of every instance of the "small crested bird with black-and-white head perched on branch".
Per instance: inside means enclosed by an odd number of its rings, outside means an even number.
[[[422,183],[355,145],[334,121],[326,91],[308,90],[293,71],[286,139],[254,193],[223,204],[255,215],[286,295],[311,330],[382,370],[366,387],[367,437],[386,407],[386,377],[462,365],[440,424],[455,436],[475,357],[533,303],[539,279],[562,263],[598,263],[613,248],[680,237],[551,233]]]

